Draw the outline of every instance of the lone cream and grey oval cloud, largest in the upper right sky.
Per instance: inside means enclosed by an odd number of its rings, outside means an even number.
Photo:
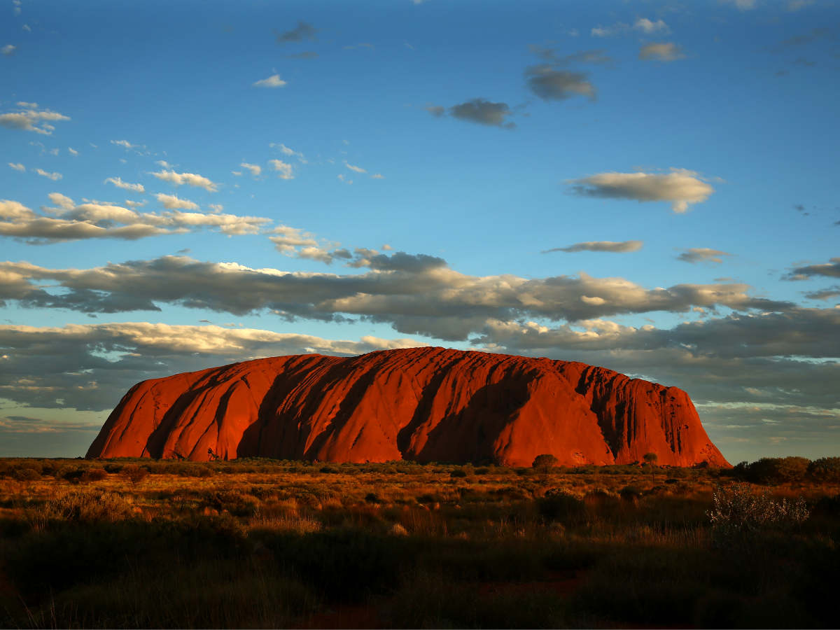
[[[672,168],[659,173],[599,173],[576,180],[571,192],[581,197],[632,199],[638,202],[671,202],[675,213],[685,213],[689,205],[705,202],[715,189],[697,178],[695,171]]]

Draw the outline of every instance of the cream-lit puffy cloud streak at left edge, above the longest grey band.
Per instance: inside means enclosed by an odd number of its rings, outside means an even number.
[[[268,218],[237,217],[232,214],[207,215],[176,210],[139,213],[134,209],[102,202],[76,205],[70,197],[56,192],[50,193],[49,197],[54,205],[42,206],[41,214],[19,202],[0,201],[0,236],[26,239],[28,244],[80,239],[137,240],[164,234],[185,234],[201,228],[218,228],[222,234],[232,236],[257,234],[262,226],[270,223]],[[164,199],[161,200],[161,197]],[[158,199],[166,205],[166,200],[177,197],[159,195]],[[0,301],[2,299],[0,297]]]

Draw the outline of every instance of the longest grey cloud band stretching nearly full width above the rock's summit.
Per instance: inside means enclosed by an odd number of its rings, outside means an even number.
[[[20,208],[13,205],[9,212],[14,216],[22,212]],[[266,234],[277,249],[289,255],[297,247],[312,247],[307,255],[316,256],[332,246],[318,244],[314,235],[296,228],[275,228]],[[343,250],[332,255],[344,260],[348,256]],[[88,270],[50,270],[7,262],[0,263],[0,299],[82,312],[128,312],[137,310],[137,304],[157,309],[157,303],[165,303],[234,315],[269,309],[282,318],[323,321],[342,321],[345,315],[352,315],[389,323],[403,333],[453,340],[466,339],[490,320],[527,317],[575,322],[631,313],[686,312],[692,307],[761,312],[795,309],[790,302],[751,297],[750,286],[734,282],[646,289],[624,278],[596,278],[585,273],[542,279],[466,276],[434,256],[404,252],[389,256],[365,249],[356,249],[348,265],[367,270],[345,275],[293,273],[199,262],[184,256],[109,263]],[[37,286],[44,281],[66,292],[50,294]],[[600,299],[595,303],[594,298]]]

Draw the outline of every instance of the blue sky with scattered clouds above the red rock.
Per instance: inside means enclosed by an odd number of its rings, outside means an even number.
[[[840,3],[0,0],[0,456],[134,383],[419,345],[840,454]]]

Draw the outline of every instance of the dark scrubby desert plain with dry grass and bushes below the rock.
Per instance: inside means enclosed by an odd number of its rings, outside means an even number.
[[[0,460],[0,627],[837,626],[840,458],[648,462]]]

